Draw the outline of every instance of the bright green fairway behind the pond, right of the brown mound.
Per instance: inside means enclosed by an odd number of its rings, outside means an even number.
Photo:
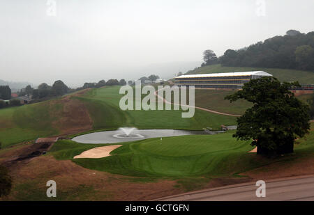
[[[195,110],[193,118],[181,118],[181,111],[121,111],[119,86],[90,90],[80,98],[89,109],[94,129],[137,127],[140,129],[202,129],[235,125],[236,118]]]

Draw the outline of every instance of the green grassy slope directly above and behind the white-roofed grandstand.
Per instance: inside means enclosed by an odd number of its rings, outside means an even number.
[[[314,84],[314,72],[303,70],[287,70],[277,68],[264,67],[224,67],[220,64],[207,65],[197,67],[195,70],[190,70],[186,74],[206,74],[219,72],[248,72],[248,71],[264,71],[274,75],[280,81],[299,81],[302,84]]]

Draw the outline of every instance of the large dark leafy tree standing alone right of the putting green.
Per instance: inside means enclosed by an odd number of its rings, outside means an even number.
[[[237,119],[240,140],[251,140],[257,154],[276,155],[293,152],[294,140],[310,129],[308,105],[294,97],[291,88],[299,83],[282,83],[274,77],[252,79],[243,90],[225,99],[246,99],[253,106]]]

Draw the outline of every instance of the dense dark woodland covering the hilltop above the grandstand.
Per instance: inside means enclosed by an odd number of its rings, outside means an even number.
[[[239,50],[227,49],[219,58],[214,51],[204,51],[204,65],[221,63],[235,67],[278,67],[314,72],[314,31],[296,30],[275,36]]]

